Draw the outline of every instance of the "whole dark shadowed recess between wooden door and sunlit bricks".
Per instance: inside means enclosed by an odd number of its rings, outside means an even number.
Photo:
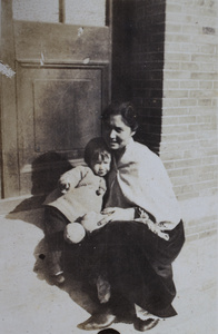
[[[159,151],[162,109],[165,1],[113,1],[112,98],[139,111],[136,139]]]

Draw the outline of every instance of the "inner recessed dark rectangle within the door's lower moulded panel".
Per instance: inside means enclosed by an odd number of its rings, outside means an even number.
[[[36,151],[78,151],[90,137],[100,136],[101,82],[97,79],[33,81]]]

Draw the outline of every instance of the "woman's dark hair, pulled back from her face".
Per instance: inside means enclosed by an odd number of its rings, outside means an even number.
[[[131,128],[132,131],[136,131],[138,128],[138,115],[131,102],[111,102],[102,115],[102,121],[106,122],[109,120],[111,115],[121,115],[123,122]]]

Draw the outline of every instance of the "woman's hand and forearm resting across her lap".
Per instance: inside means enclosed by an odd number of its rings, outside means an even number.
[[[99,226],[115,220],[133,220],[135,208],[107,207],[101,212],[101,215],[105,215],[105,217],[98,222]]]

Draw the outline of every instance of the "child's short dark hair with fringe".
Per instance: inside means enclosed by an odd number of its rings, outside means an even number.
[[[85,163],[90,167],[93,161],[110,158],[110,150],[101,137],[92,138],[85,148]]]

